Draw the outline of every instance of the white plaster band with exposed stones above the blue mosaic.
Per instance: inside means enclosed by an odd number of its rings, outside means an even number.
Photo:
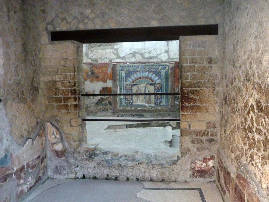
[[[83,62],[179,61],[179,41],[83,44]]]

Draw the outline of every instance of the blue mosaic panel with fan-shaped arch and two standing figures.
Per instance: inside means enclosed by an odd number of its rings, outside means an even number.
[[[119,93],[170,92],[169,64],[119,64]],[[169,96],[119,96],[119,108],[168,107]]]

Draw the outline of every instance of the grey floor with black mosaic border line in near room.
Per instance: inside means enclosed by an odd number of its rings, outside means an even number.
[[[197,190],[201,188],[205,200]],[[183,190],[182,190],[183,189]],[[23,202],[223,202],[215,183],[47,179]]]

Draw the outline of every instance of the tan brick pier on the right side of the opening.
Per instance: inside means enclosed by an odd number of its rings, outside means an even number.
[[[218,143],[217,36],[180,37],[181,155],[212,151]]]

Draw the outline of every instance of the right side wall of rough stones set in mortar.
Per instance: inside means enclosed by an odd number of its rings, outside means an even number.
[[[219,162],[227,159],[225,167],[231,173],[227,176],[236,182],[227,186],[229,180],[223,176],[222,166],[218,168],[221,179],[217,184],[225,201],[268,201],[268,10],[268,1],[225,1],[224,4]],[[237,179],[238,172],[243,176],[240,178],[246,179],[243,186],[241,179]],[[246,190],[246,184],[254,187]],[[249,192],[259,199],[253,199]]]

